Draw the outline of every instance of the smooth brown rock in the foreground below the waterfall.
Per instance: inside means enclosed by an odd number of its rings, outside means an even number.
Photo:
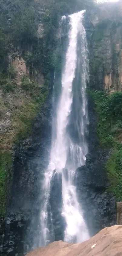
[[[91,247],[94,246],[92,249]],[[102,229],[90,240],[78,244],[62,241],[36,249],[28,256],[122,256],[122,225]]]

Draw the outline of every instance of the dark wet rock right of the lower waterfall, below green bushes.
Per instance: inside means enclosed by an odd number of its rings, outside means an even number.
[[[88,113],[89,153],[86,156],[86,164],[77,169],[75,182],[84,218],[90,235],[93,236],[102,228],[116,224],[117,207],[114,193],[106,191],[109,183],[105,164],[109,152],[99,144],[96,131],[97,116],[91,99],[88,99]]]

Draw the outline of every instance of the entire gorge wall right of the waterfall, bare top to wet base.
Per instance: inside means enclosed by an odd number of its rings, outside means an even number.
[[[122,111],[121,1],[87,10],[84,26],[90,68],[89,152],[85,166],[77,169],[76,184],[84,218],[94,235],[101,228],[116,224],[116,200],[121,200],[122,195],[121,128],[117,124]]]

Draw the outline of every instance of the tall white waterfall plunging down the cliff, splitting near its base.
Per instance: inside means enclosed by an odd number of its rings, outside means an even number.
[[[77,200],[76,188],[74,186],[75,171],[84,165],[87,154],[87,143],[85,132],[87,130],[87,99],[85,96],[86,79],[88,79],[87,41],[86,32],[82,23],[84,11],[69,16],[71,29],[69,31],[69,46],[66,53],[66,62],[62,74],[62,92],[57,107],[57,131],[56,138],[52,139],[50,162],[45,171],[44,180],[44,204],[41,210],[41,230],[43,234],[43,245],[48,240],[48,201],[50,196],[50,182],[54,174],[62,174],[62,215],[66,221],[64,240],[66,242],[81,242],[89,238],[88,230],[83,218],[81,207]],[[67,132],[69,117],[73,103],[73,82],[76,75],[77,61],[77,38],[81,37],[82,74],[80,84],[81,110],[76,122],[79,141],[74,143]],[[75,86],[75,85],[74,85]],[[53,127],[52,127],[53,129]],[[51,213],[50,213],[51,214]]]

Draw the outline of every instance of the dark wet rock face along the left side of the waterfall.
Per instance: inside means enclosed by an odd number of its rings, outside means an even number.
[[[0,255],[25,255],[33,248],[34,237],[38,237],[40,181],[44,178],[51,145],[53,80],[52,74],[47,103],[35,120],[31,136],[15,148],[11,191],[0,229]]]

